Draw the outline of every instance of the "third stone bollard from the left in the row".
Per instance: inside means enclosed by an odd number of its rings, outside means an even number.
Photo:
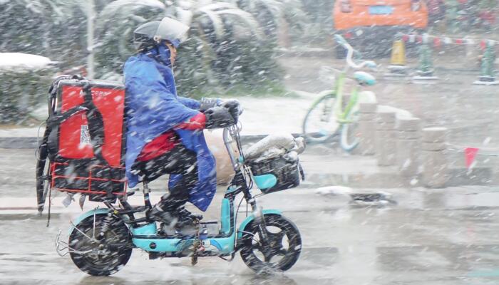
[[[419,137],[421,120],[402,118],[397,120],[397,167],[403,177],[418,175]]]

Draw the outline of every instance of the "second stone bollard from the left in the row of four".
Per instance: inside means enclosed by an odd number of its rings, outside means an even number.
[[[395,113],[376,113],[376,158],[378,165],[389,166],[396,163]]]

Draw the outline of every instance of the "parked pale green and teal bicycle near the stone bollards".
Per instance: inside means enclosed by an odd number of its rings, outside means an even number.
[[[340,35],[334,35],[337,43],[347,50],[346,66],[334,83],[333,90],[324,90],[319,98],[309,108],[305,115],[302,130],[308,142],[326,142],[335,135],[340,135],[340,145],[350,152],[359,145],[359,105],[360,103],[375,103],[376,95],[371,91],[359,91],[361,86],[373,86],[376,79],[364,71],[355,71],[354,79],[358,83],[352,90],[349,100],[344,102],[344,86],[349,68],[364,67],[376,69],[373,61],[356,63],[354,56],[359,58],[359,52],[354,50]],[[356,60],[358,62],[358,60]]]

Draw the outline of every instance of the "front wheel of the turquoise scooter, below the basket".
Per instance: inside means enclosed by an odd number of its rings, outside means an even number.
[[[279,214],[266,214],[264,219],[269,234],[265,240],[271,244],[260,244],[258,224],[253,220],[243,230],[245,233],[240,240],[242,261],[258,274],[286,271],[299,258],[302,237],[297,226]],[[278,256],[281,258],[274,259]]]

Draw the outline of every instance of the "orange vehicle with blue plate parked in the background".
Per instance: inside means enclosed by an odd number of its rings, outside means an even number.
[[[336,0],[333,9],[336,33],[355,48],[372,56],[384,56],[396,33],[424,30],[428,9],[421,0]],[[345,52],[336,47],[336,56]]]

